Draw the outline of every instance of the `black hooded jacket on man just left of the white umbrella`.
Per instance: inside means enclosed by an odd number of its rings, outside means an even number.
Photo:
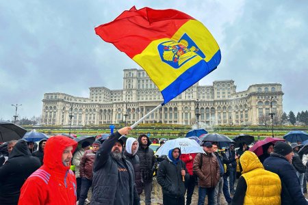
[[[138,137],[139,148],[136,154],[139,156],[140,160],[140,171],[142,179],[144,181],[152,181],[153,172],[156,168],[156,157],[154,155],[154,151],[151,148],[149,148],[149,146],[151,145],[149,137],[146,136],[146,138],[148,139],[146,148],[142,147],[141,143],[142,137]]]

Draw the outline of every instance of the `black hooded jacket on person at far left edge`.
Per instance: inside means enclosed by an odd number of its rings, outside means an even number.
[[[25,180],[40,167],[40,161],[31,156],[27,142],[19,140],[0,167],[0,204],[17,204]]]

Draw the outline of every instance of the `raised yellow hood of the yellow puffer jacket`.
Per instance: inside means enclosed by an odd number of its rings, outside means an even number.
[[[251,151],[246,151],[242,156],[240,157],[240,163],[242,165],[242,174],[251,172],[253,169],[264,169],[264,166],[259,161],[259,158],[257,155]]]

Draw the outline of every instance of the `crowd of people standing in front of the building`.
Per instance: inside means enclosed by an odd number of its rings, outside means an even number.
[[[123,137],[129,131],[120,128],[78,149],[77,141],[64,136],[40,141],[38,150],[23,139],[8,142],[8,154],[0,156],[0,204],[139,205],[144,193],[149,205],[154,172],[165,205],[192,204],[196,184],[198,205],[206,196],[207,204],[219,205],[222,195],[233,205],[308,204],[308,153],[298,154],[300,142],[268,143],[257,156],[245,143],[220,150],[218,142],[203,141],[204,153],[182,154],[174,147],[157,158],[148,135]]]

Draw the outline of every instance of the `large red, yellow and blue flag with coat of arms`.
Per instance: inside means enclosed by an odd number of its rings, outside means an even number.
[[[177,10],[135,7],[95,28],[136,61],[164,96],[164,104],[217,68],[219,46],[207,28]]]

